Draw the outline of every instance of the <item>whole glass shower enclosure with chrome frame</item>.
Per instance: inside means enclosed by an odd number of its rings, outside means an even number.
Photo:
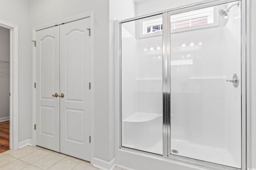
[[[120,148],[245,168],[244,1],[120,23]]]

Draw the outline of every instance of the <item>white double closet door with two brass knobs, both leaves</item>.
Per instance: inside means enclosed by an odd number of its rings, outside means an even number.
[[[90,161],[90,18],[36,32],[36,145]]]

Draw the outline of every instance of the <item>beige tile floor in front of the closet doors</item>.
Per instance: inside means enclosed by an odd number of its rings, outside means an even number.
[[[90,162],[37,146],[0,153],[0,170],[100,170]],[[115,167],[114,170],[124,170]]]

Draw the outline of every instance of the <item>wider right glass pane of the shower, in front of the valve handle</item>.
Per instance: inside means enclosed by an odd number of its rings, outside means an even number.
[[[241,5],[219,14],[236,3],[208,8],[208,19],[198,17],[205,9],[190,11],[191,27],[171,29],[170,152],[241,168],[241,82],[230,82],[241,80]],[[177,15],[171,27],[189,16]]]

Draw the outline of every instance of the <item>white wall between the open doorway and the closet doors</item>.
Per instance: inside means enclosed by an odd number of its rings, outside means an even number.
[[[28,0],[0,0],[0,19],[19,26],[19,142],[32,138],[32,51]]]

